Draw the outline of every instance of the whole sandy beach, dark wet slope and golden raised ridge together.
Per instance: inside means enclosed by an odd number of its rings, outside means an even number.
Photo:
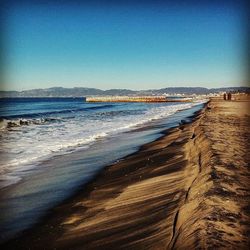
[[[249,249],[249,125],[249,101],[212,99],[2,249]]]

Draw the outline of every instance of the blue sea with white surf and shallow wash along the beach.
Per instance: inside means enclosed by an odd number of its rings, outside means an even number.
[[[105,166],[190,120],[206,100],[0,99],[0,241],[30,228]]]

